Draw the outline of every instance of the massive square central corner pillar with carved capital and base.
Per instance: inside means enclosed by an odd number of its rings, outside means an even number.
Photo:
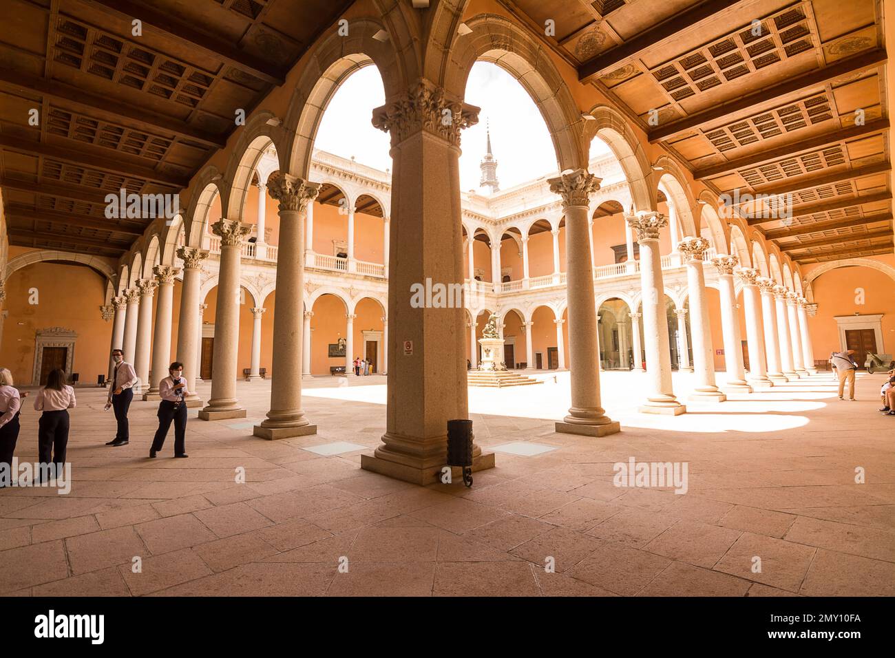
[[[410,289],[427,278],[463,283],[460,131],[478,112],[425,79],[373,111],[373,124],[391,133],[390,244],[404,256],[392,260],[388,277],[388,320],[396,330],[388,337],[386,433],[361,466],[412,483],[439,482],[447,421],[469,417],[465,311],[414,308]],[[473,470],[493,466],[493,453],[473,446]]]

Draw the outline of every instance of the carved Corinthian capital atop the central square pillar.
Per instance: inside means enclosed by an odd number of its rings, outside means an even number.
[[[430,81],[419,81],[404,96],[373,109],[373,126],[391,133],[391,145],[400,144],[414,132],[431,132],[460,145],[460,131],[479,123],[481,108],[447,98],[445,90]]]

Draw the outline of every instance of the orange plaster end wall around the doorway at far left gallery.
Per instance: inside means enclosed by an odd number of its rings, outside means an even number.
[[[28,303],[32,287],[38,289],[38,304]],[[9,315],[0,364],[13,372],[18,385],[30,385],[35,332],[63,327],[78,334],[72,372],[81,375],[81,382],[95,383],[99,374],[107,374],[112,339],[112,320],[103,320],[99,313],[105,295],[106,282],[90,268],[40,262],[19,269],[6,281],[4,309]]]

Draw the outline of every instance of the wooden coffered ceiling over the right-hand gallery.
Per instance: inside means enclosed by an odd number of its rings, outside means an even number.
[[[892,252],[882,2],[499,2],[796,261]]]

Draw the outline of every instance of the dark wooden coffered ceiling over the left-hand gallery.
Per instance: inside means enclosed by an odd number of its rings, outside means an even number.
[[[106,218],[107,193],[179,192],[352,2],[4,0],[10,244],[121,255],[151,218]]]

